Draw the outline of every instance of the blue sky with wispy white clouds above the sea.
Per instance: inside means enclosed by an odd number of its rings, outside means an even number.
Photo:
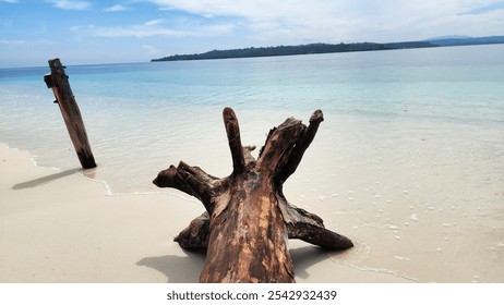
[[[504,35],[502,0],[0,0],[0,68]]]

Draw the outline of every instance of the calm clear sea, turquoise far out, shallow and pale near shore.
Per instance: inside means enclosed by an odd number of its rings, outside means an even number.
[[[152,181],[180,160],[216,176],[231,173],[225,107],[237,113],[242,144],[257,151],[271,129],[290,117],[308,123],[321,109],[324,122],[285,193],[329,228],[365,241],[357,243],[361,255],[332,259],[443,281],[432,277],[435,265],[432,273],[403,265],[425,248],[432,257],[417,258],[436,261],[447,248],[459,257],[476,243],[493,256],[479,263],[484,266],[470,263],[460,280],[504,280],[504,45],[96,65],[61,61],[96,169],[80,169],[44,83],[49,68],[0,69],[0,142],[29,151],[39,167],[98,181],[107,195],[165,192],[189,200]],[[419,223],[424,227],[413,230]],[[430,234],[424,246],[412,242],[419,230]],[[473,230],[483,235],[464,239]],[[385,248],[397,253],[386,255]],[[500,267],[487,268],[493,263]]]

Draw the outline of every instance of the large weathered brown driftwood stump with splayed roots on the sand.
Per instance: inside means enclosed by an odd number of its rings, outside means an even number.
[[[224,109],[232,173],[213,176],[180,161],[159,172],[159,187],[175,187],[200,199],[206,211],[175,239],[187,249],[206,249],[201,282],[295,282],[287,239],[329,249],[352,247],[351,241],[324,228],[323,220],[290,205],[283,184],[296,171],[313,141],[321,110],[309,126],[293,118],[274,127],[257,159],[254,146],[242,146],[235,111]]]

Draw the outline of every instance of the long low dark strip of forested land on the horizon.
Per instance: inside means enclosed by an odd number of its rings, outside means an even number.
[[[453,46],[470,46],[470,45],[491,45],[504,44],[504,36],[489,37],[437,37],[422,41],[405,41],[405,42],[355,42],[355,44],[310,44],[300,46],[278,46],[278,47],[262,47],[262,48],[244,48],[231,50],[213,50],[196,54],[175,54],[159,59],[157,61],[180,61],[180,60],[208,60],[208,59],[230,59],[230,58],[256,58],[256,57],[281,57],[281,56],[300,56],[300,54],[320,54],[320,53],[337,53],[337,52],[360,52],[360,51],[380,51],[380,50],[396,50],[396,49],[416,49],[416,48],[435,48],[435,47],[453,47]]]

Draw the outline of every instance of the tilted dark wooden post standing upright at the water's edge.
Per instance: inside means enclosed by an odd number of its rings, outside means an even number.
[[[44,75],[44,82],[52,89],[56,100],[63,115],[64,124],[69,131],[70,139],[77,152],[79,160],[84,169],[96,168],[95,158],[87,141],[86,129],[81,117],[75,97],[70,88],[69,76],[59,59],[49,60],[50,74]]]

